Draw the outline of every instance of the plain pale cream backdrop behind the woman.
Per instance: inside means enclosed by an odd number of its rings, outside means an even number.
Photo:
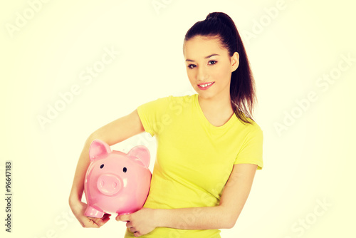
[[[265,167],[235,227],[221,236],[355,237],[352,4],[2,1],[0,187],[5,197],[11,160],[13,203],[9,234],[1,199],[1,237],[123,236],[124,222],[83,229],[73,218],[68,195],[78,156],[90,133],[138,105],[195,93],[183,38],[213,11],[229,14],[241,33],[264,135]],[[150,148],[152,170],[156,145],[147,133],[112,148],[139,144]]]

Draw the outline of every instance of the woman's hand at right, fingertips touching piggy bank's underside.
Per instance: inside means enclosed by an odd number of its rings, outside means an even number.
[[[135,237],[140,237],[156,228],[154,211],[155,209],[142,208],[132,214],[118,215],[116,220],[127,222],[126,227],[134,232]]]

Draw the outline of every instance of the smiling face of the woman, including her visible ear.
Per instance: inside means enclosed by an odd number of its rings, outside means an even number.
[[[217,37],[194,36],[184,42],[187,75],[202,98],[230,95],[231,73],[239,66],[239,53],[232,57]]]

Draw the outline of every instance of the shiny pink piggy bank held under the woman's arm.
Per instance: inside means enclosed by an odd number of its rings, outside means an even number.
[[[85,216],[130,214],[142,208],[152,177],[148,169],[150,152],[145,146],[135,146],[126,154],[110,150],[101,140],[94,140],[90,144],[89,158],[84,182],[88,203]]]

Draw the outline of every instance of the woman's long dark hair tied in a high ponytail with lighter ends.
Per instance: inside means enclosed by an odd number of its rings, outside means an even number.
[[[255,82],[248,62],[244,44],[234,21],[222,12],[213,12],[204,21],[198,21],[186,33],[184,42],[194,36],[218,36],[221,45],[229,51],[230,57],[239,53],[239,67],[231,74],[231,107],[237,118],[243,123],[250,123],[253,106],[256,101]],[[246,115],[246,117],[245,117]]]

